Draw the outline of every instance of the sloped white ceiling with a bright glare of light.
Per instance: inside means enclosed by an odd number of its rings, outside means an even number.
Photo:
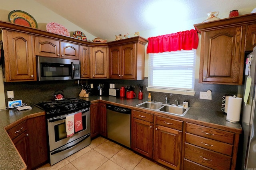
[[[36,0],[96,37],[107,39],[119,33],[135,33],[207,18],[218,11],[227,18],[231,10],[240,14],[256,8],[256,0]],[[156,12],[156,10],[160,10]],[[250,13],[250,12],[249,12]],[[159,16],[158,16],[159,15]],[[154,18],[158,16],[158,18]],[[162,25],[164,24],[164,25]],[[184,30],[180,30],[184,31]]]

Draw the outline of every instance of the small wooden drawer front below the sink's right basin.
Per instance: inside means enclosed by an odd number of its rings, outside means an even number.
[[[182,131],[183,121],[156,116],[156,124]]]

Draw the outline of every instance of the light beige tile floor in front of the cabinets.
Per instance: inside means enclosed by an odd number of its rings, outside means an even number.
[[[135,154],[103,137],[94,139],[88,147],[50,166],[37,170],[166,170],[162,166]]]

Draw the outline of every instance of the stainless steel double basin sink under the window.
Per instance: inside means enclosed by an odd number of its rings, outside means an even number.
[[[163,104],[160,102],[143,102],[141,104],[137,104],[137,107],[141,107],[144,109],[149,109],[153,111],[160,111],[162,113],[174,114],[184,116],[188,112],[188,108],[184,108],[182,106],[176,106],[174,104]]]

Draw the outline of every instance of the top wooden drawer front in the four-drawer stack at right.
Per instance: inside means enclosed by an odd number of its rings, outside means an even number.
[[[234,141],[234,133],[193,123],[186,123],[186,132],[229,144]]]

